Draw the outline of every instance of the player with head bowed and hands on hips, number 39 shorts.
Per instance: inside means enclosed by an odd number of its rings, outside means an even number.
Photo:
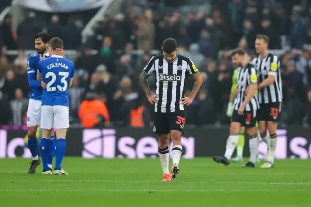
[[[174,39],[166,39],[162,45],[163,54],[150,59],[140,74],[140,83],[148,101],[155,104],[154,129],[159,134],[159,157],[163,168],[163,181],[169,182],[180,172],[179,161],[183,151],[181,135],[186,123],[184,105],[192,103],[198,93],[202,77],[194,63],[177,54],[177,43]],[[151,95],[147,78],[155,74],[156,91]],[[195,80],[190,97],[184,97],[184,86],[188,75]],[[169,172],[169,140],[173,142],[173,166]]]

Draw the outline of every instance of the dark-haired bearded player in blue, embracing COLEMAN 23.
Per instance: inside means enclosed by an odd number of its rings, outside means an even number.
[[[35,50],[37,53],[31,55],[27,59],[27,74],[28,74],[28,82],[31,86],[31,92],[29,97],[29,104],[27,109],[27,137],[28,137],[28,148],[32,154],[33,161],[31,162],[30,168],[28,170],[29,174],[35,173],[36,167],[40,165],[40,159],[38,157],[38,139],[36,137],[38,125],[41,122],[41,96],[42,96],[42,86],[41,80],[37,81],[36,74],[37,74],[37,66],[40,60],[49,57],[48,51],[48,42],[50,41],[51,37],[44,32],[38,33],[34,37],[35,43]],[[64,56],[64,51],[58,50],[56,51],[57,54]],[[49,152],[42,155],[48,156],[48,166],[49,171],[46,173],[52,174],[52,162],[55,152],[55,140],[54,140],[54,131],[51,132],[51,137],[48,137],[49,144],[46,146],[45,150]],[[41,142],[40,142],[41,144]],[[40,146],[40,150],[42,150],[42,146]]]

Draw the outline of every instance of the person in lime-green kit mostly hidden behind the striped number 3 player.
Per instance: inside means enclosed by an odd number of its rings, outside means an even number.
[[[251,60],[248,54],[245,54],[245,60],[247,62]],[[232,117],[232,113],[233,113],[233,101],[236,97],[237,75],[238,75],[238,69],[235,69],[233,72],[233,76],[232,76],[232,87],[231,87],[230,100],[229,100],[228,109],[227,109],[227,116],[230,118]],[[255,127],[258,129],[257,121],[256,121]],[[232,158],[232,162],[243,162],[243,151],[244,151],[244,145],[245,145],[245,127],[243,126],[240,127],[238,136],[239,136],[239,140],[237,144],[237,156],[235,158]],[[259,140],[258,133],[257,133],[257,139]],[[259,162],[260,162],[260,159],[257,154],[256,163],[259,163]]]

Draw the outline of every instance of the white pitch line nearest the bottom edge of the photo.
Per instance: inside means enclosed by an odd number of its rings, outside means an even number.
[[[283,189],[263,189],[263,190],[225,190],[225,189],[215,189],[215,190],[203,190],[203,189],[186,189],[186,190],[154,190],[154,189],[106,189],[106,190],[86,190],[86,189],[0,189],[2,192],[262,192],[262,191],[307,191],[305,189],[294,189],[294,190],[283,190]]]

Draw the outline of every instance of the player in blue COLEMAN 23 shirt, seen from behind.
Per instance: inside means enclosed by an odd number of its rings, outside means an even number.
[[[56,55],[57,49],[63,49],[63,41],[60,38],[52,38],[49,43],[50,58],[42,60],[38,64],[37,80],[47,83],[43,90],[41,105],[42,128],[42,162],[43,173],[48,171],[47,159],[44,159],[44,150],[48,146],[51,129],[56,128],[56,163],[54,174],[67,174],[61,163],[66,150],[66,133],[69,128],[69,98],[68,86],[72,85],[74,65],[63,56]]]

